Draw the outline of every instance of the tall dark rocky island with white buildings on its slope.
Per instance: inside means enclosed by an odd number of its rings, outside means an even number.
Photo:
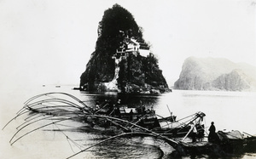
[[[80,90],[158,94],[170,91],[158,60],[132,14],[113,5],[98,26],[96,50],[80,77]]]

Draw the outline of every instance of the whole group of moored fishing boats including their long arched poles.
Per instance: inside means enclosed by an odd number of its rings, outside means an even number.
[[[159,116],[153,107],[148,108],[144,105],[131,107],[129,105],[120,105],[119,102],[116,105],[112,105],[106,100],[101,104],[96,103],[94,107],[90,107],[71,94],[48,93],[39,94],[28,99],[24,107],[11,121],[24,114],[29,116],[26,117],[25,122],[17,127],[17,132],[10,139],[11,145],[40,128],[56,124],[61,125],[61,122],[72,120],[81,123],[85,122],[90,128],[118,129],[118,132],[113,133],[112,136],[105,140],[127,135],[153,136],[162,139],[175,149],[174,153],[177,156],[206,153],[223,156],[227,153],[256,151],[256,137],[250,134],[245,137],[238,131],[227,133],[218,131],[214,142],[208,142],[205,138],[207,136],[207,127],[203,123],[206,115],[203,112],[195,112],[190,116],[177,119],[177,116],[173,116],[171,112],[170,116]],[[26,130],[26,127],[46,120],[48,122],[44,122],[43,126],[33,128],[29,132],[21,134],[20,137],[18,136],[21,130]],[[73,128],[73,126],[70,128]],[[82,129],[84,126],[77,128]],[[192,138],[196,138],[195,142],[191,141]]]

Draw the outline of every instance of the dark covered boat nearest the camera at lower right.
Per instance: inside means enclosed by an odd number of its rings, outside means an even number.
[[[229,156],[243,154],[246,152],[256,152],[256,137],[253,135],[244,137],[239,131],[216,133],[214,142],[179,142],[173,152],[175,156],[188,155],[209,155],[209,156]]]

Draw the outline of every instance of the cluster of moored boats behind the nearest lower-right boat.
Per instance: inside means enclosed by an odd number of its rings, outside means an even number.
[[[96,102],[96,108],[93,110],[94,115],[105,116],[99,120],[99,116],[85,119],[85,122],[90,122],[91,125],[102,125],[105,127],[119,127],[125,131],[137,131],[138,127],[147,128],[148,131],[160,133],[168,137],[182,137],[189,133],[191,123],[195,123],[195,128],[200,132],[201,137],[204,134],[204,124],[202,123],[204,116],[203,112],[196,112],[191,116],[184,117],[182,120],[177,120],[177,116],[160,116],[155,113],[153,107],[146,108],[144,105],[138,107],[129,107],[129,105],[111,105],[105,101],[102,104]],[[111,120],[110,120],[111,117]],[[125,126],[128,125],[128,126]],[[132,128],[129,126],[133,125]]]

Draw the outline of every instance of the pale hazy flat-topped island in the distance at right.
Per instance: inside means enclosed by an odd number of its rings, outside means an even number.
[[[174,88],[185,90],[255,91],[256,67],[220,58],[189,57]]]

